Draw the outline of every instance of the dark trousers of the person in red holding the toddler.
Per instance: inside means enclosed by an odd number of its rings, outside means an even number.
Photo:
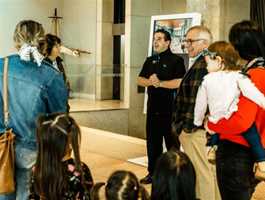
[[[222,200],[250,200],[257,181],[250,148],[220,140],[216,152],[217,182]]]

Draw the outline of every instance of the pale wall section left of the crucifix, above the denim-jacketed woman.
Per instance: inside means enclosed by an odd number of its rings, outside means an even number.
[[[0,1],[0,57],[15,52],[13,32],[16,24],[24,19],[32,19],[51,30],[54,8],[61,7],[61,0],[1,0]],[[61,14],[59,12],[59,14]]]

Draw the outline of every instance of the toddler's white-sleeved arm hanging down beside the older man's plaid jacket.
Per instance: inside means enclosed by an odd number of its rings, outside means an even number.
[[[194,124],[196,126],[201,126],[205,118],[207,111],[207,90],[205,85],[202,82],[201,86],[198,89],[196,96],[196,103],[194,108]]]

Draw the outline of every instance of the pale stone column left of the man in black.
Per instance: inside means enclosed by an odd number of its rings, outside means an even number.
[[[130,136],[145,137],[144,95],[137,92],[136,80],[148,55],[151,16],[159,14],[161,0],[126,0],[124,96]]]

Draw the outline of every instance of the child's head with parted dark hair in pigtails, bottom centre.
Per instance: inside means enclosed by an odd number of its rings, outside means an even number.
[[[92,200],[99,200],[99,189],[105,183],[97,183],[91,191]],[[106,200],[148,200],[149,195],[139,184],[134,173],[125,170],[115,171],[109,177],[105,187]]]

